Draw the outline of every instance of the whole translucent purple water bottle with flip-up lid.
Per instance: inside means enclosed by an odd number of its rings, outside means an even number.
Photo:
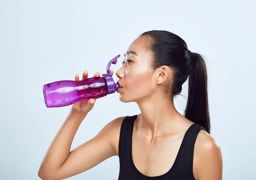
[[[107,66],[103,77],[87,78],[81,81],[55,81],[43,86],[46,107],[63,107],[72,105],[82,99],[98,99],[115,93],[119,84],[115,83],[110,73],[111,64],[117,63],[117,55]]]

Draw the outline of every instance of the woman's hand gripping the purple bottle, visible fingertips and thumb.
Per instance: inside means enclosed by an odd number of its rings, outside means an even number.
[[[110,71],[110,73],[111,73],[111,75],[113,75],[112,70]],[[100,73],[95,73],[93,75],[93,77],[99,78]],[[82,80],[87,79],[87,78],[88,78],[88,71],[85,70],[84,73],[83,73]],[[76,74],[75,81],[79,81],[79,74]],[[95,102],[96,102],[96,99],[84,99],[84,100],[81,100],[81,101],[78,101],[78,102],[74,103],[72,108],[76,111],[81,112],[81,113],[89,113],[90,110],[93,109]]]

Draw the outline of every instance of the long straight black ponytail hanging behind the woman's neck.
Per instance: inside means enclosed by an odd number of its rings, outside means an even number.
[[[204,127],[210,134],[206,64],[198,53],[191,53],[191,61],[188,102],[184,116]]]

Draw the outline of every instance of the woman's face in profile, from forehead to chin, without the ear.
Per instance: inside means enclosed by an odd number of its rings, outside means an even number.
[[[138,102],[150,96],[155,88],[153,70],[150,67],[150,55],[144,48],[143,38],[135,39],[127,52],[122,67],[116,72],[122,87],[118,90],[121,102]]]

